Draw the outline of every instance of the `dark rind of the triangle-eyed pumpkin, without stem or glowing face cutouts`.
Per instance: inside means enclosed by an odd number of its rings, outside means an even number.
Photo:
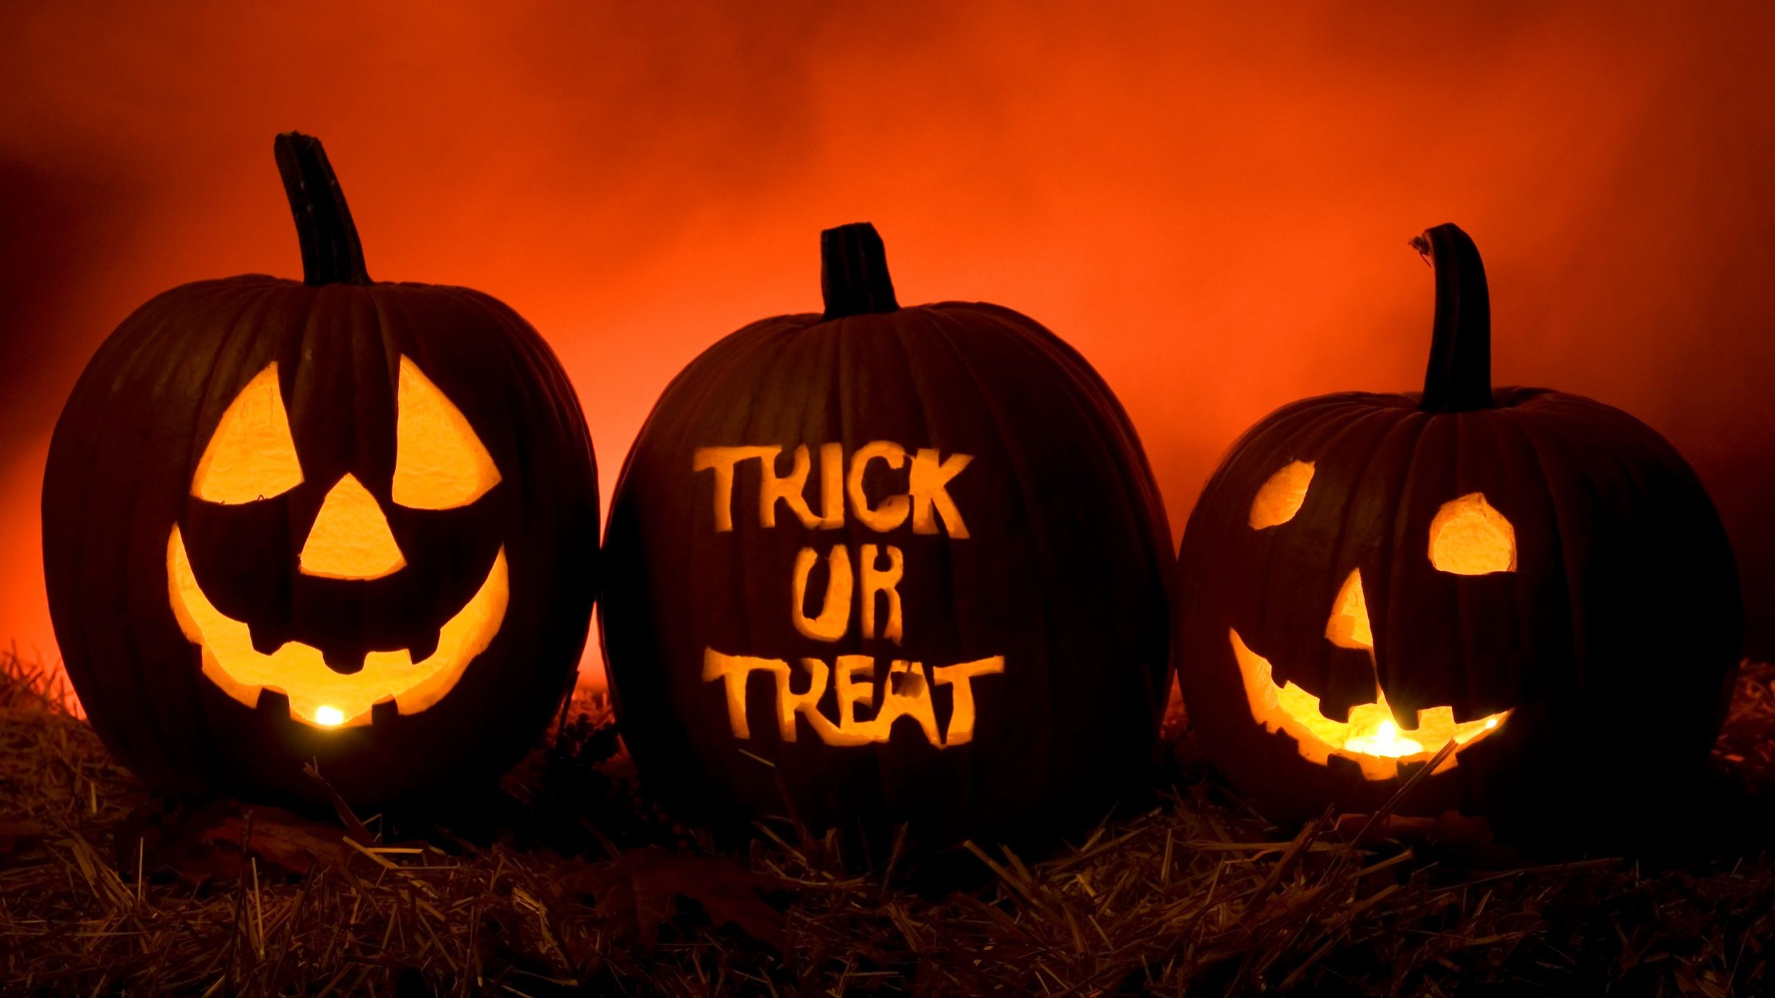
[[[502,481],[472,504],[437,511],[390,501],[401,357],[460,408],[499,465]],[[304,481],[240,506],[192,497],[224,410],[272,362]],[[296,574],[321,497],[341,474],[376,497],[401,542],[406,566],[387,579]],[[248,620],[261,650],[304,639],[350,659],[422,645],[501,549],[506,616],[430,709],[399,714],[383,703],[364,726],[302,725],[272,689],[250,709],[202,675],[199,648],[169,607],[174,526],[204,593]],[[367,277],[247,275],[158,295],[105,341],[55,428],[43,529],[57,641],[119,760],[163,788],[296,803],[323,799],[302,772],[318,760],[348,801],[375,806],[490,778],[547,725],[589,627],[596,467],[557,360],[501,302]]]

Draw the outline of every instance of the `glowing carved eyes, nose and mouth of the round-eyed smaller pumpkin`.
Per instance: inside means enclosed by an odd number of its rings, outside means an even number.
[[[1314,465],[1292,462],[1273,474],[1251,501],[1250,524],[1269,529],[1287,524],[1306,501]],[[1431,563],[1441,572],[1457,575],[1484,575],[1516,570],[1516,531],[1511,520],[1495,510],[1479,492],[1445,503],[1431,520]],[[1369,602],[1361,591],[1361,572],[1351,570],[1331,600],[1326,616],[1326,641],[1338,648],[1369,652],[1374,662],[1374,629],[1369,623]],[[1244,680],[1246,703],[1251,719],[1266,732],[1283,732],[1294,739],[1301,758],[1328,765],[1340,756],[1361,767],[1365,780],[1390,780],[1400,764],[1425,762],[1450,741],[1456,751],[1438,767],[1452,769],[1461,748],[1496,732],[1509,719],[1503,710],[1473,721],[1456,721],[1454,707],[1425,707],[1418,710],[1413,728],[1393,721],[1386,691],[1379,680],[1374,685],[1374,703],[1351,709],[1347,721],[1326,717],[1319,698],[1292,680],[1276,685],[1269,659],[1253,652],[1237,629],[1228,629],[1234,659]]]

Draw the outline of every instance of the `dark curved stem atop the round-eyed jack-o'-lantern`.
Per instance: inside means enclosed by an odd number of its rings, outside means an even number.
[[[1491,300],[1479,247],[1448,222],[1411,240],[1411,249],[1436,270],[1436,327],[1418,408],[1491,408]]]

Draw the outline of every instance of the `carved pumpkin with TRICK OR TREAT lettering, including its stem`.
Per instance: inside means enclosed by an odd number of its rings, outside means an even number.
[[[1033,320],[898,307],[866,224],[822,256],[825,314],[692,360],[618,481],[600,622],[641,776],[864,838],[1095,820],[1145,776],[1168,661],[1140,440]]]

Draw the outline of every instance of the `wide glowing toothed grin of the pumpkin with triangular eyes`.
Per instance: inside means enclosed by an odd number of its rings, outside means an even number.
[[[463,669],[492,645],[506,618],[506,549],[501,545],[474,597],[438,630],[438,646],[421,661],[408,648],[369,652],[364,668],[341,675],[321,650],[288,641],[270,655],[254,650],[252,629],[218,611],[192,572],[178,524],[167,542],[167,590],[185,638],[202,650],[204,675],[247,707],[259,691],[289,698],[289,716],[318,728],[367,725],[371,707],[394,700],[401,714],[431,707],[456,687]]]

